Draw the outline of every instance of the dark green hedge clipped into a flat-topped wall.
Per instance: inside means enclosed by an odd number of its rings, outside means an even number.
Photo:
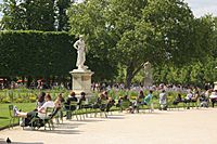
[[[75,68],[74,40],[66,32],[1,31],[0,76],[68,76]]]

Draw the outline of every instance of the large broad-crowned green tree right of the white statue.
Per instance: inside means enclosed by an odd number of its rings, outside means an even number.
[[[189,56],[194,17],[182,0],[86,0],[69,13],[72,31],[87,35],[91,51],[103,49],[126,67],[128,88],[146,61],[184,64],[199,54]]]

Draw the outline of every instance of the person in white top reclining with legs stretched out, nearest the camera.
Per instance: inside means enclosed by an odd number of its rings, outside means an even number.
[[[43,119],[46,117],[46,109],[48,107],[55,106],[53,101],[51,100],[50,94],[47,93],[44,96],[44,100],[46,100],[46,103],[41,107],[38,107],[37,110],[34,110],[34,112],[29,112],[29,113],[18,112],[18,109],[14,107],[14,115],[18,117],[24,117],[24,118],[33,118],[36,114],[38,114],[38,117]]]

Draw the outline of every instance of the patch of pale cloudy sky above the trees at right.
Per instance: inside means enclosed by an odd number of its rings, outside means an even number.
[[[3,0],[0,0],[0,3]],[[80,0],[78,0],[80,1]],[[204,14],[213,14],[214,16],[217,16],[217,0],[184,0],[187,3],[189,3],[189,6],[192,9],[193,14],[196,17],[201,17]],[[1,17],[1,14],[0,14]]]

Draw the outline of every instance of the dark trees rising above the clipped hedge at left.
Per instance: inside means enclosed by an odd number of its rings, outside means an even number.
[[[68,30],[71,0],[3,0],[1,27],[7,30]]]

